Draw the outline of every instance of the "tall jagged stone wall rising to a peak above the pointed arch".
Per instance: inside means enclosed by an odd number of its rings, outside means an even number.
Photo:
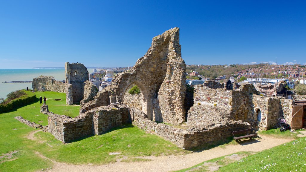
[[[179,28],[168,30],[155,36],[144,57],[131,69],[117,75],[113,83],[99,93],[93,103],[84,104],[83,109],[123,102],[126,90],[135,84],[143,94],[142,110],[150,120],[181,123],[185,120],[185,69]],[[113,96],[116,99],[110,99]]]

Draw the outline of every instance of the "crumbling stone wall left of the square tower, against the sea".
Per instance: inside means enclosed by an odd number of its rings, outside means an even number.
[[[65,92],[65,83],[55,80],[54,77],[40,76],[33,78],[32,88],[37,91]]]

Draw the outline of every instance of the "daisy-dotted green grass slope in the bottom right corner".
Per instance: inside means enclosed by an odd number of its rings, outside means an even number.
[[[228,171],[306,171],[306,138],[250,155],[240,161],[221,167],[218,172]]]

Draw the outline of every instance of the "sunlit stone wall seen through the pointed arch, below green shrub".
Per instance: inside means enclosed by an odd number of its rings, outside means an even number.
[[[130,94],[129,90],[134,87],[136,84],[131,84],[125,91],[124,97],[123,97],[123,103],[128,105],[129,107],[133,107],[138,110],[142,110],[143,105],[143,99],[144,96],[142,93],[138,94]]]

